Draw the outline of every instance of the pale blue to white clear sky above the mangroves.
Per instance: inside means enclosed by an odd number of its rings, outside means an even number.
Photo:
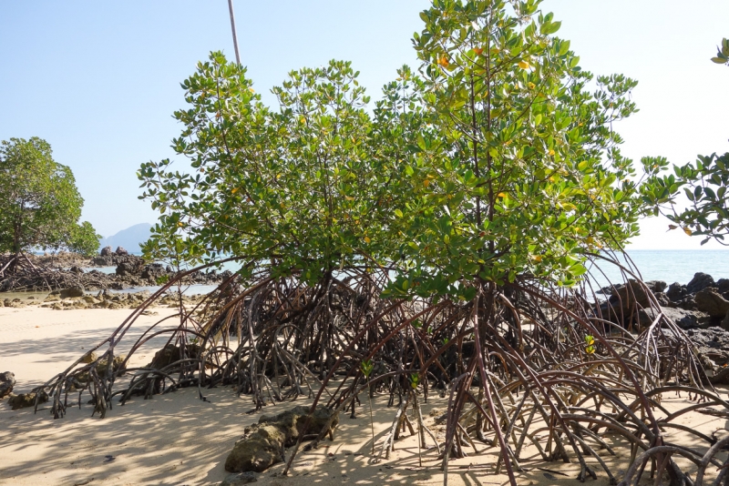
[[[426,0],[235,0],[241,63],[272,104],[272,86],[303,66],[351,60],[374,99],[403,64]],[[709,58],[729,37],[729,2],[545,0],[580,66],[639,80],[640,112],[617,127],[623,154],[668,157],[729,151],[729,68]],[[210,51],[234,58],[226,0],[57,2],[0,0],[0,140],[42,137],[71,167],[83,218],[110,236],[157,215],[136,170],[183,159],[169,147],[185,106],[180,82]],[[700,248],[699,238],[642,222],[631,248]],[[723,248],[708,244],[704,248]]]

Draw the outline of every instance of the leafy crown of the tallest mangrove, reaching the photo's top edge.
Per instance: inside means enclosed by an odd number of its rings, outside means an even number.
[[[560,23],[539,1],[514,5],[435,2],[421,14],[414,43],[430,128],[416,119],[404,130],[409,201],[390,228],[407,264],[391,295],[472,299],[465,281],[525,274],[570,286],[585,253],[621,248],[637,231],[634,171],[612,130],[635,111],[636,83],[599,77],[589,93],[592,76],[553,36]]]

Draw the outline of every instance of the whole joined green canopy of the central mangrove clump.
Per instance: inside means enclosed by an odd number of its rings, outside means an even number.
[[[221,254],[312,282],[391,268],[386,295],[473,299],[474,281],[573,285],[586,254],[637,232],[640,195],[613,124],[635,82],[580,69],[539,0],[435,2],[370,114],[349,63],[293,71],[263,106],[212,53],[182,87],[169,160],[139,169],[160,219],[145,252]],[[170,250],[170,246],[173,246]]]

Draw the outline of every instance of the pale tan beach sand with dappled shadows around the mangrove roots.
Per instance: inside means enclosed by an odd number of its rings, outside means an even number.
[[[136,339],[139,329],[156,320],[172,316],[175,309],[154,309],[157,315],[142,316],[128,337]],[[25,392],[64,370],[80,353],[98,344],[128,316],[128,309],[52,310],[27,307],[0,309],[0,371],[15,373],[16,392]],[[173,320],[170,320],[173,322]],[[135,330],[138,329],[138,330]],[[163,341],[149,344],[148,352],[135,355],[131,365],[149,360]],[[123,348],[123,347],[122,347]],[[720,390],[725,397],[726,390]],[[219,484],[228,473],[223,463],[233,443],[241,438],[246,426],[258,421],[262,414],[278,413],[293,405],[310,403],[299,399],[268,406],[252,412],[250,397],[236,397],[231,388],[204,390],[209,401],[198,398],[195,388],[156,395],[152,400],[141,398],[125,406],[116,404],[106,419],[91,417],[92,407],[83,403],[69,407],[67,416],[52,420],[48,408],[42,406],[34,415],[32,409],[10,410],[0,407],[0,484],[6,485],[82,485],[82,484]],[[74,399],[74,400],[77,400]],[[87,394],[84,400],[87,400]],[[395,414],[386,407],[386,396],[375,397],[375,441],[381,449],[386,430]],[[665,396],[668,409],[686,403],[687,397]],[[423,412],[426,423],[443,440],[445,425],[436,418],[445,411],[446,400],[431,394]],[[692,412],[680,421],[683,425],[707,435],[723,437],[726,420]],[[300,452],[288,477],[280,475],[283,465],[273,466],[258,474],[262,485],[304,484],[442,484],[443,473],[437,451],[421,451],[419,466],[417,442],[413,436],[395,442],[389,460],[372,461],[367,401],[358,409],[356,419],[349,414],[340,417],[334,441],[324,440],[319,449]],[[667,440],[696,445],[693,438],[680,430],[666,430]],[[498,448],[477,442],[478,454],[467,447],[469,457],[450,461],[448,484],[505,484],[504,474],[494,474]],[[603,458],[618,480],[625,471],[628,450],[616,456],[604,451]],[[580,484],[575,478],[580,470],[576,463],[541,461],[533,447],[522,452],[517,473],[519,484]],[[609,483],[600,465],[592,458],[588,463],[598,474],[592,484]],[[540,469],[539,469],[540,468]],[[646,475],[647,476],[647,475]]]

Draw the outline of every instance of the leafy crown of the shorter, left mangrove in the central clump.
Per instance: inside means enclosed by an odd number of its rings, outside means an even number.
[[[182,84],[190,109],[175,113],[185,129],[174,147],[197,174],[172,172],[169,160],[139,170],[142,197],[161,213],[145,251],[174,238],[190,258],[244,255],[307,280],[359,261],[377,239],[384,171],[356,76],[337,61],[293,71],[273,88],[272,111],[245,68],[210,55]]]

